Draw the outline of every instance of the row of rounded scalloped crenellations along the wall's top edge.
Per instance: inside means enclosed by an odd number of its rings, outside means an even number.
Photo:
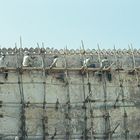
[[[53,49],[53,48],[0,48],[0,54],[16,54],[28,51],[34,54],[93,54],[93,55],[139,55],[140,49]]]

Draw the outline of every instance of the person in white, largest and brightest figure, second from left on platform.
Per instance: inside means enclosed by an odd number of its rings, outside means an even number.
[[[33,59],[29,56],[29,52],[24,53],[22,66],[23,67],[31,67],[33,63]]]

